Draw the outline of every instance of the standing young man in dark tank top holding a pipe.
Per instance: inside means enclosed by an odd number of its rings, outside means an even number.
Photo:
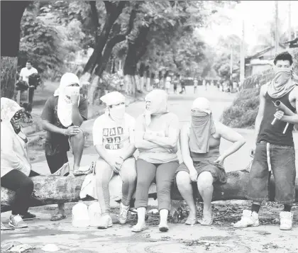
[[[260,106],[255,118],[253,164],[246,198],[253,201],[251,210],[243,210],[234,227],[258,226],[258,212],[262,201],[269,200],[268,179],[275,178],[275,201],[284,204],[280,213],[280,229],[291,230],[292,203],[295,201],[295,150],[292,130],[298,123],[298,77],[293,73],[289,52],[282,52],[274,60],[275,77],[260,88]],[[277,109],[275,102],[287,106],[287,113]],[[279,102],[278,102],[279,103]],[[272,123],[273,119],[275,123]]]

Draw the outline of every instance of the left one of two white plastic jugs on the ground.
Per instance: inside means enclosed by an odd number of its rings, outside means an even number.
[[[72,207],[72,225],[74,227],[88,227],[90,224],[88,207],[79,201],[77,205]]]

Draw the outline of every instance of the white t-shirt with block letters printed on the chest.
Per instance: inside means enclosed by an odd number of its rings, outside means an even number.
[[[125,113],[123,123],[116,123],[109,114],[96,118],[93,125],[93,144],[104,145],[106,152],[121,155],[134,143],[136,120]]]

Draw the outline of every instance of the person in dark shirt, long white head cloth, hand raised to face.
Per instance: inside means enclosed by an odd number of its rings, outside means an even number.
[[[59,88],[45,102],[43,108],[43,129],[48,131],[45,157],[51,174],[68,166],[67,151],[70,147],[74,154],[74,166],[70,168],[70,175],[79,170],[84,149],[84,132],[80,126],[88,116],[88,103],[79,95],[79,89],[79,78],[75,74],[63,74]],[[58,209],[57,215],[51,220],[66,218],[64,203],[59,203]]]

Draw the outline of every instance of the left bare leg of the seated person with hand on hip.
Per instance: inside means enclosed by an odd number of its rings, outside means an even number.
[[[187,218],[187,224],[192,225],[197,218],[197,208],[194,202],[194,195],[192,192],[192,181],[190,180],[187,172],[178,172],[176,176],[177,187],[180,191],[182,198],[189,206],[189,216]]]

